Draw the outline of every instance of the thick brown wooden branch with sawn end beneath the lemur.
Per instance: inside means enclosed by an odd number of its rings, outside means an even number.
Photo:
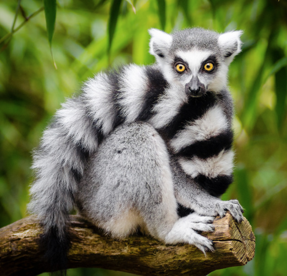
[[[138,275],[203,276],[226,267],[244,265],[255,252],[249,222],[235,222],[229,213],[205,233],[214,241],[214,252],[204,254],[195,246],[166,246],[146,236],[118,241],[102,234],[79,216],[71,216],[72,246],[69,268],[101,267]],[[37,246],[40,228],[35,217],[20,219],[0,229],[0,275],[37,275],[47,272],[43,252]]]

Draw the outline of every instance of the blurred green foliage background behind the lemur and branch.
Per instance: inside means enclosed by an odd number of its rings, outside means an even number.
[[[211,275],[286,275],[286,0],[58,0],[52,28],[58,69],[43,1],[0,1],[0,227],[26,216],[32,150],[65,97],[100,70],[152,63],[149,28],[191,26],[244,31],[229,77],[236,107],[235,182],[223,198],[238,198],[244,206],[256,253],[244,267]],[[17,32],[10,36],[12,30]],[[126,274],[73,269],[69,275]]]

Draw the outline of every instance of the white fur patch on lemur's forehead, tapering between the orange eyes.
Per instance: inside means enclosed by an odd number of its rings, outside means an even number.
[[[190,71],[197,72],[202,64],[202,62],[206,59],[208,59],[209,56],[211,56],[211,51],[202,51],[193,49],[192,51],[178,51],[175,53],[175,55],[179,58],[181,58],[183,61],[185,61],[188,64],[188,67]]]

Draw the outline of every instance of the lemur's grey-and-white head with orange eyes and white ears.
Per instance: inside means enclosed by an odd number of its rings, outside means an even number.
[[[241,51],[242,31],[219,34],[192,28],[171,34],[150,29],[149,33],[149,52],[156,57],[164,77],[193,97],[223,89],[228,66]]]

